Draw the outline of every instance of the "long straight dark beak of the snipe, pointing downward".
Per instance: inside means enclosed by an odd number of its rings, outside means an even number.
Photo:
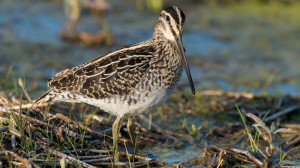
[[[182,45],[182,41],[181,41],[180,36],[176,37],[176,45],[177,45],[177,48],[180,52],[182,62],[183,62],[183,67],[184,67],[184,70],[186,72],[186,75],[188,76],[188,80],[189,80],[189,84],[190,84],[192,93],[195,95],[194,82],[193,82],[193,79],[192,79],[192,76],[191,76],[189,64],[187,63],[187,59],[186,59],[186,56],[185,56],[185,52],[184,52],[184,49],[183,49],[183,45]]]

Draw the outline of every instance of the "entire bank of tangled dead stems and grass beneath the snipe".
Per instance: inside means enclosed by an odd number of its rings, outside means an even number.
[[[19,81],[19,85],[22,86],[22,82]],[[30,110],[33,100],[25,89],[23,92],[25,98],[9,93],[0,96],[0,165],[112,167],[113,120],[110,116],[97,115],[99,110],[86,105],[51,103]],[[177,101],[171,98],[162,108],[167,117],[178,113],[178,109],[190,109],[189,115],[195,117],[201,115],[201,109],[208,108],[214,113],[214,118],[222,114],[231,119],[218,121],[214,128],[183,128],[172,132],[161,129],[156,125],[159,123],[155,124],[145,116],[139,116],[142,123],[135,123],[138,149],[155,146],[158,142],[168,144],[170,148],[197,144],[203,149],[199,150],[199,157],[175,165],[166,165],[140,154],[133,155],[124,122],[118,142],[121,160],[115,163],[116,167],[299,166],[299,118],[296,122],[291,120],[299,115],[299,98],[206,91],[195,98],[194,102],[199,103],[191,104],[184,103],[189,99],[184,93],[177,92],[175,96]],[[147,129],[143,123],[149,122],[151,127]]]

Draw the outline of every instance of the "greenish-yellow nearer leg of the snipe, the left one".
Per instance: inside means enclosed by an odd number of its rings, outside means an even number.
[[[120,132],[120,120],[122,117],[117,116],[115,122],[112,126],[113,134],[113,163],[119,161],[119,152],[118,152],[118,136]]]

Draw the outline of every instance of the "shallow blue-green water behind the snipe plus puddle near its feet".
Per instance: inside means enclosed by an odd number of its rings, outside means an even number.
[[[91,48],[59,38],[66,22],[60,1],[1,1],[1,78],[12,66],[13,76],[24,77],[28,91],[37,97],[47,90],[47,79],[56,72],[87,62],[121,44],[151,37],[159,12],[137,15],[134,2],[112,4],[115,9],[106,12],[106,17],[84,12],[76,30],[97,32],[107,20],[118,45]],[[283,12],[276,12],[277,8],[252,11],[245,7],[181,6],[187,15],[183,43],[197,93],[218,89],[299,95],[300,22],[293,20],[294,15],[284,14],[294,8],[282,7]],[[181,84],[188,85],[185,73]],[[159,149],[157,146],[149,150],[167,163],[199,154],[191,145],[174,149],[176,155],[171,149]]]

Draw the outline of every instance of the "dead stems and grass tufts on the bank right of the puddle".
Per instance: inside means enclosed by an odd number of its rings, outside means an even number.
[[[211,133],[206,133],[208,136],[202,136],[206,144],[204,153],[199,158],[184,162],[184,165],[261,168],[300,166],[300,124],[299,118],[296,119],[299,116],[299,98],[219,91],[206,91],[203,97],[208,100],[214,97],[214,101],[209,104],[215,112],[240,120],[242,118],[245,127],[241,121],[225,122],[222,127],[212,129]],[[237,111],[241,112],[241,116]],[[298,122],[293,123],[291,116],[296,116],[294,118]],[[217,142],[211,141],[212,137],[228,143],[214,145]]]

